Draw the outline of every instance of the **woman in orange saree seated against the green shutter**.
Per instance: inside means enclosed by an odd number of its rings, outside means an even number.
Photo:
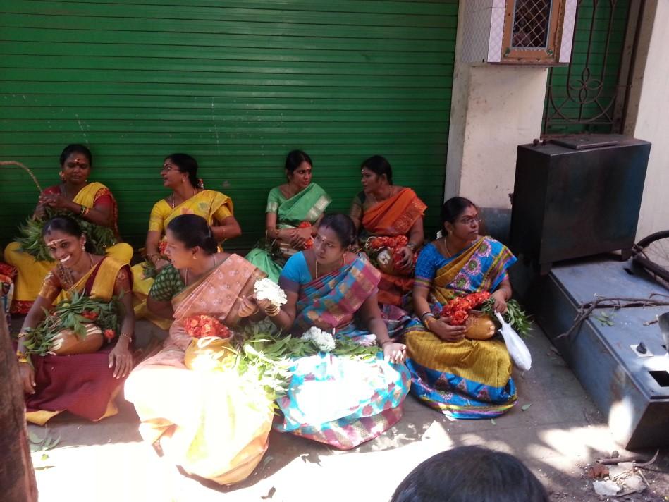
[[[381,271],[379,303],[402,305],[413,285],[415,254],[423,244],[426,205],[411,188],[393,185],[391,164],[374,155],[362,163],[362,192],[350,216],[360,232],[360,245]],[[387,239],[371,239],[371,237]]]

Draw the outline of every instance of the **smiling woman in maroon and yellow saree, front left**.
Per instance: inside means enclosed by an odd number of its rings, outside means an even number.
[[[133,367],[128,349],[135,332],[130,268],[111,256],[87,252],[86,236],[70,218],[57,216],[47,222],[44,240],[57,264],[44,278],[42,290],[18,335],[18,368],[25,390],[26,418],[43,425],[62,411],[94,421],[116,415],[113,399]],[[120,297],[121,333],[93,353],[25,355],[28,329],[44,319],[44,311],[61,291],[68,299],[75,294],[104,301]],[[102,334],[97,336],[102,341]]]

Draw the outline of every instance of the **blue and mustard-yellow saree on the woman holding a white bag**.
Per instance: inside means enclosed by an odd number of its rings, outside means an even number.
[[[438,317],[445,302],[456,295],[494,291],[516,261],[491,238],[481,238],[467,250],[446,258],[434,244],[418,259],[416,278],[430,287],[429,302]],[[516,403],[512,364],[499,337],[442,341],[414,317],[405,329],[411,392],[426,405],[454,418],[491,418]]]

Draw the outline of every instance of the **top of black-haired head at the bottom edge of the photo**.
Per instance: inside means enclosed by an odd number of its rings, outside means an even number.
[[[546,489],[508,453],[460,446],[418,465],[391,502],[548,502]]]

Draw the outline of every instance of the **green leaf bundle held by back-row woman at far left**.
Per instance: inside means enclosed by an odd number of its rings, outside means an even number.
[[[71,212],[56,211],[51,207],[47,207],[45,208],[44,218],[28,218],[25,224],[18,228],[18,231],[22,235],[18,238],[21,249],[32,255],[39,262],[54,261],[47,249],[46,243],[44,243],[42,231],[44,230],[44,224],[55,216],[68,216],[75,220],[79,224],[81,231],[86,235],[87,243],[90,243],[92,247],[91,252],[95,255],[104,255],[107,247],[117,243],[116,236],[113,234],[111,228],[92,224],[90,221],[86,221]]]

